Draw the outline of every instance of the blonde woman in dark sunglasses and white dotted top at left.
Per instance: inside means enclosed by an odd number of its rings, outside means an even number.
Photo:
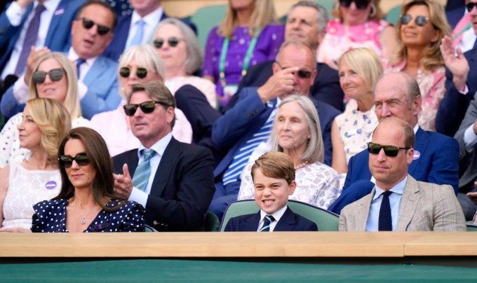
[[[81,117],[79,105],[78,79],[71,61],[62,53],[48,53],[39,57],[32,74],[25,74],[28,82],[29,99],[51,98],[65,105],[72,120],[72,127],[88,126],[89,121]],[[12,116],[0,132],[0,167],[11,162],[22,162],[27,149],[20,149],[17,125],[22,121],[22,113]]]

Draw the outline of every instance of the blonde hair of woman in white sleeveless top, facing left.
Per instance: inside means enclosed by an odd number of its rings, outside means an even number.
[[[25,107],[41,131],[40,145],[48,154],[48,161],[56,163],[60,143],[72,127],[68,110],[50,98],[30,99]]]

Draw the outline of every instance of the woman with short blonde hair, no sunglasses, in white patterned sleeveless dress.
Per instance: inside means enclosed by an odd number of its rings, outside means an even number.
[[[331,126],[332,167],[344,174],[349,158],[366,149],[377,126],[372,90],[383,69],[377,54],[368,48],[347,51],[338,66],[340,85],[349,102]]]

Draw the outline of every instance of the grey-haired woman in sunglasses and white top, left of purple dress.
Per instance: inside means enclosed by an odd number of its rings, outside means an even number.
[[[194,76],[202,67],[203,52],[189,26],[175,18],[161,20],[154,32],[152,46],[164,62],[164,84],[173,95],[183,85],[192,85],[206,96],[211,106],[217,106],[215,85],[205,78]]]

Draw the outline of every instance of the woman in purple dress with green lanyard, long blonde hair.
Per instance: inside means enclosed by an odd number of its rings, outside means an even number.
[[[285,29],[273,0],[229,0],[225,19],[207,39],[203,78],[215,83],[220,106],[229,102],[248,67],[274,60]]]

